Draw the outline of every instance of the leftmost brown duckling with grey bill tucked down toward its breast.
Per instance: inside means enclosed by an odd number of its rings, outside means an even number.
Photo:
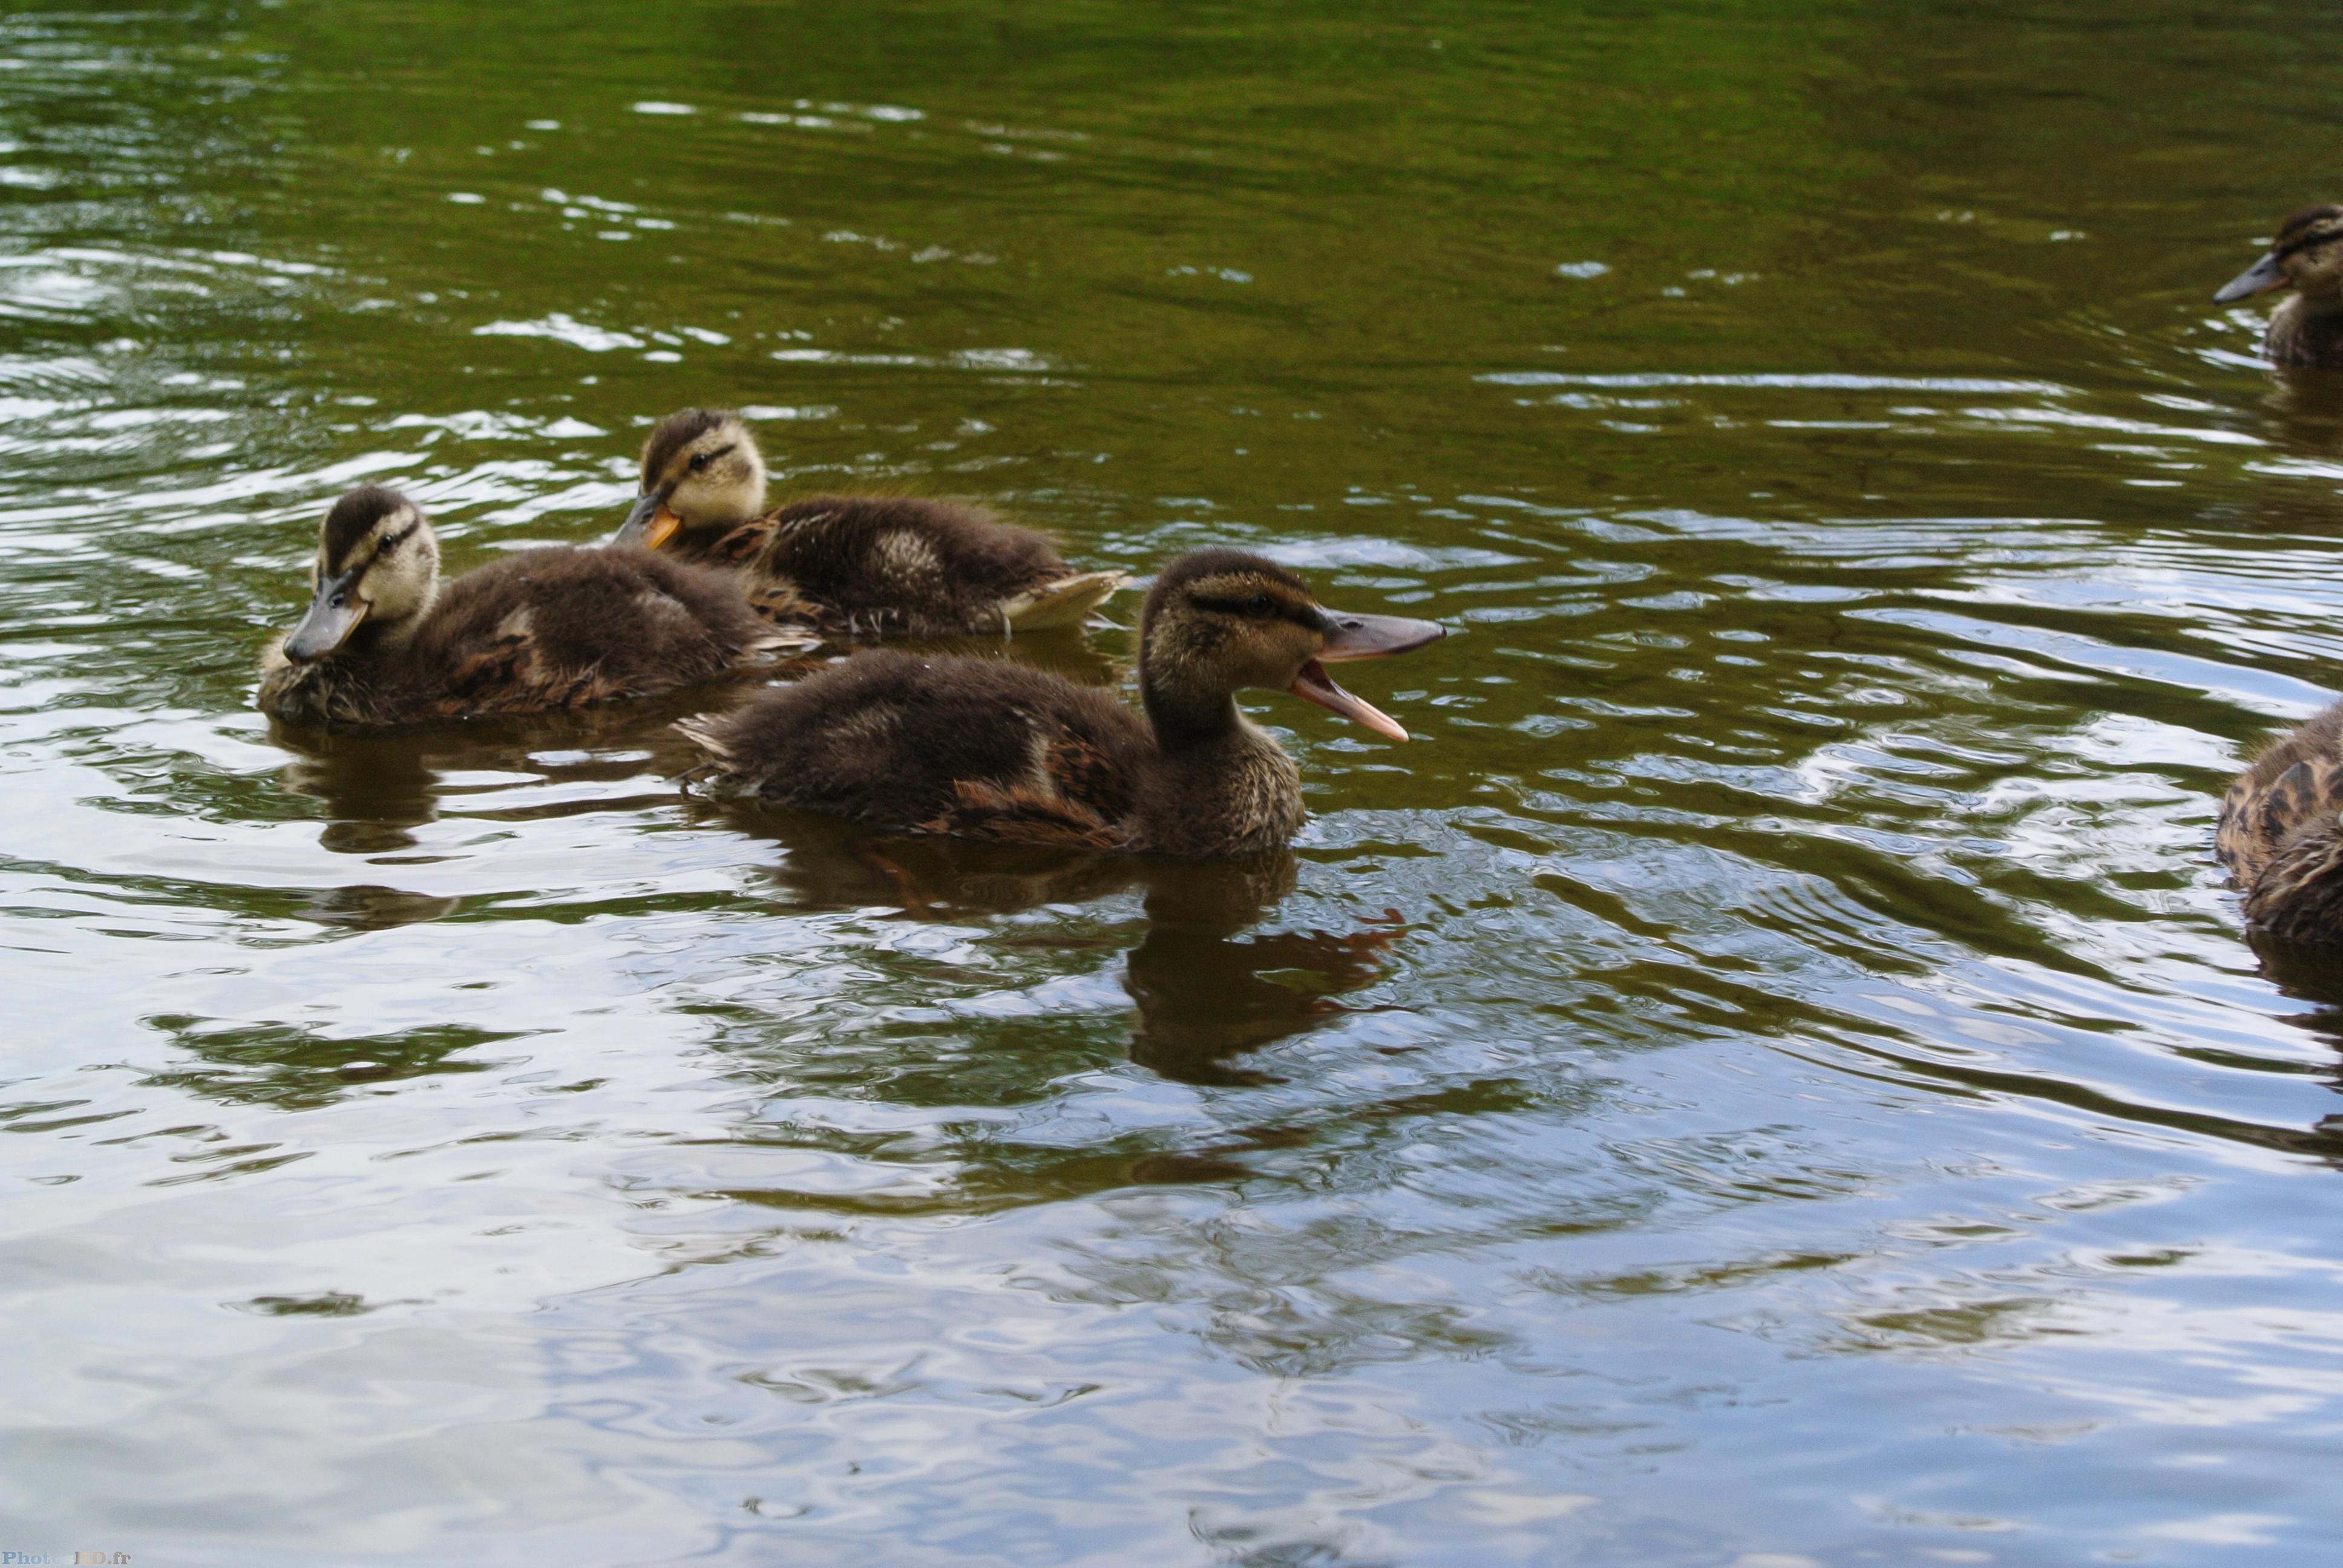
[[[309,584],[300,626],[260,656],[274,720],[579,708],[726,675],[787,642],[724,574],[649,551],[522,551],[443,588],[431,523],[382,485],[326,513]]]

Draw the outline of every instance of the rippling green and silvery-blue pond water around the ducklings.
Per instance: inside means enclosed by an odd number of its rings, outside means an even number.
[[[2207,298],[2327,38],[7,9],[0,1547],[2320,1559],[2343,973],[2209,839],[2343,682],[2343,394]],[[1418,741],[1261,698],[1232,872],[251,710],[337,490],[597,539],[691,401],[1439,616]]]

